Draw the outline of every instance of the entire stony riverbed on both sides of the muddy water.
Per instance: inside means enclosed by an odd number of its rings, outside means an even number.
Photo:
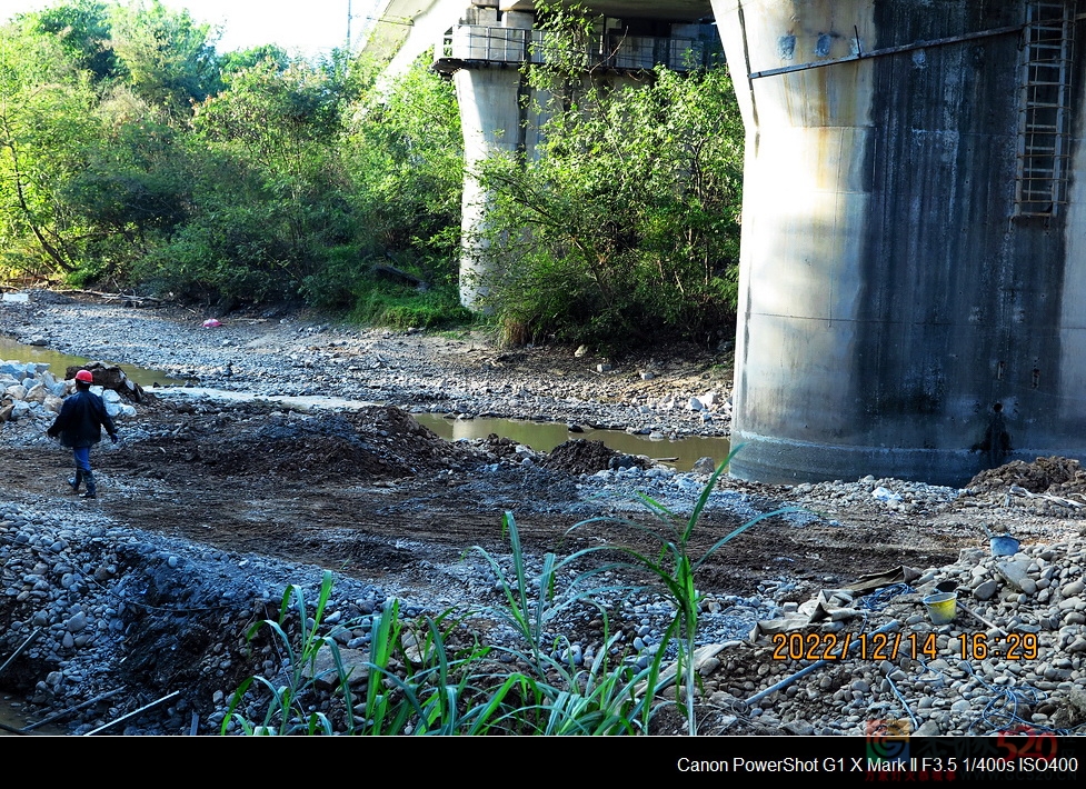
[[[202,328],[210,317],[222,326]],[[101,498],[93,502],[67,491],[70,460],[42,436],[48,415],[3,426],[0,658],[39,635],[0,687],[34,720],[96,700],[63,718],[78,731],[166,697],[117,731],[217,730],[245,677],[281,668],[271,652],[247,650],[246,630],[276,616],[287,583],[312,596],[323,568],[337,578],[331,617],[356,620],[352,648],[365,649],[366,622],[389,598],[410,617],[500,602],[492,571],[471,548],[508,553],[505,511],[515,512],[534,566],[547,551],[647,549],[636,531],[610,521],[567,531],[608,515],[650,523],[632,501],[637,492],[689,512],[707,479],[598,446],[548,456],[497,439],[449,443],[409,411],[676,438],[728,430],[726,346],[615,360],[562,348],[504,350],[481,332],[359,330],[299,313],[210,316],[43,292],[0,304],[0,332],[201,386],[379,403],[348,411],[152,397],[119,422],[119,445],[94,450]],[[708,408],[691,409],[691,398]],[[1086,720],[1076,690],[1086,657],[1086,508],[1076,506],[1086,502],[1084,490],[1083,472],[1068,462],[989,472],[968,490],[874,478],[796,487],[723,480],[695,555],[759,513],[804,511],[760,522],[701,568],[699,640],[720,646],[701,665],[701,730],[857,735],[890,719],[926,733],[1074,730]],[[985,528],[1022,540],[1020,568],[989,556]],[[763,696],[811,656],[771,632],[750,642],[759,620],[809,617],[823,590],[900,567],[918,570],[903,571],[911,590],[886,600],[866,590],[824,593],[825,621],[816,611],[795,632],[815,635],[821,648],[897,622],[910,646],[835,660]],[[919,599],[945,581],[987,625],[965,612],[931,625]],[[665,598],[642,591],[605,602],[631,660],[668,649],[659,643],[671,610]],[[602,622],[587,609],[552,628],[581,656],[602,640]],[[1007,638],[995,630],[1029,633],[1018,643],[1037,651],[1008,658]],[[1003,648],[999,660],[963,651],[978,632]],[[487,637],[512,646],[496,625]],[[1012,716],[1008,687],[1037,696]],[[658,730],[678,726],[665,716]]]

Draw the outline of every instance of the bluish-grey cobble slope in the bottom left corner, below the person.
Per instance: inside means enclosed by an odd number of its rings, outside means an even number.
[[[249,626],[278,615],[288,582],[313,600],[321,578],[319,568],[118,528],[67,502],[0,505],[0,662],[24,647],[4,687],[32,705],[33,720],[57,716],[77,732],[181,689],[123,731],[211,733],[252,671]],[[333,620],[383,600],[347,578],[336,592]]]

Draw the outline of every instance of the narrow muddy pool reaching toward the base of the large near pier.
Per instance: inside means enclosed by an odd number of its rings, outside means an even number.
[[[415,418],[441,438],[486,438],[490,433],[506,437],[540,452],[575,438],[602,441],[605,447],[627,455],[647,455],[689,471],[698,458],[713,458],[719,465],[728,457],[731,443],[726,438],[684,438],[677,441],[632,436],[621,430],[585,430],[571,433],[561,422],[530,422],[517,419],[446,419],[437,413],[416,413]]]

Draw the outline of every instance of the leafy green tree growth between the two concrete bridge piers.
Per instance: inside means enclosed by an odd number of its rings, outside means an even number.
[[[521,340],[715,334],[734,320],[739,252],[743,130],[727,69],[598,77],[578,43],[594,20],[552,19],[549,62],[529,76],[545,141],[480,173],[491,306]]]

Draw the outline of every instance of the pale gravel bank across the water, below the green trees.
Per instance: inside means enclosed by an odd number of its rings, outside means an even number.
[[[330,396],[405,410],[548,419],[667,437],[724,436],[730,354],[612,362],[568,349],[506,351],[481,332],[366,330],[269,312],[222,317],[74,301],[34,291],[3,304],[0,330],[21,342],[137,364],[206,387]],[[604,371],[600,371],[600,368]],[[700,407],[690,408],[691,398]]]

